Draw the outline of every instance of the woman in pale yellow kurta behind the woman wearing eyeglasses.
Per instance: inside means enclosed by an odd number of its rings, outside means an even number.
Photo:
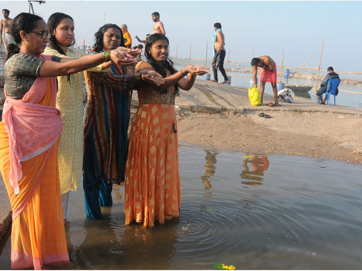
[[[80,58],[88,56],[81,50],[68,48],[75,44],[74,21],[67,14],[56,12],[48,19],[48,28],[51,33],[49,47],[45,48],[46,55],[59,57]],[[106,64],[89,69],[101,72],[108,70]],[[83,178],[83,89],[84,73],[79,72],[70,76],[58,76],[58,92],[56,93],[56,108],[62,111],[64,124],[59,141],[59,180],[62,193],[64,224],[69,218],[69,192],[77,191],[79,182]]]

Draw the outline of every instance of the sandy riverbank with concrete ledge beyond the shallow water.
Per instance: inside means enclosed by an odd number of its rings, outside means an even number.
[[[180,95],[176,98],[180,107],[179,142],[212,150],[318,156],[362,163],[361,109],[319,105],[299,97],[294,98],[294,104],[280,102],[281,107],[254,107],[249,103],[247,88],[202,80]],[[264,101],[271,100],[265,94]],[[261,112],[272,117],[259,117]]]

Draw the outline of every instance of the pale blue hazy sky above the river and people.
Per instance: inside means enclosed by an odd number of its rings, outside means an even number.
[[[28,1],[0,1],[1,9],[10,10],[10,18],[28,12]],[[78,44],[93,44],[94,33],[105,23],[126,23],[133,39],[152,33],[152,12],[160,13],[170,55],[212,58],[214,23],[222,24],[226,51],[230,60],[250,61],[271,56],[280,65],[305,67],[319,64],[337,71],[361,72],[361,1],[49,1],[33,3],[35,14],[47,21],[54,12],[73,17]],[[204,64],[203,61],[200,61]],[[247,64],[245,64],[247,66]]]

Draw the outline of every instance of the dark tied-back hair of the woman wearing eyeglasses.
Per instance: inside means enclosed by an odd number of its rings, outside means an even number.
[[[22,30],[33,31],[39,21],[43,21],[43,18],[25,12],[19,13],[13,19],[11,22],[10,34],[13,36],[14,42],[16,42],[17,45],[14,45],[14,43],[8,44],[5,60],[8,60],[10,56],[15,55],[16,53],[20,53],[20,44],[22,42],[20,32]]]

